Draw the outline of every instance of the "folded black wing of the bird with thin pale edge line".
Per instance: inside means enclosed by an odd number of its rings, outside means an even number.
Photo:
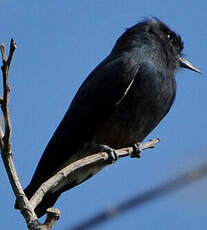
[[[48,143],[33,181],[45,181],[74,158],[124,98],[138,70],[139,64],[127,55],[109,56],[97,66],[81,85]]]

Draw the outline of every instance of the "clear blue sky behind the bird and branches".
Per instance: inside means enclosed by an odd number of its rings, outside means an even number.
[[[0,42],[17,42],[11,65],[13,154],[25,187],[81,82],[127,27],[156,16],[179,33],[203,75],[176,74],[177,98],[148,137],[162,142],[140,160],[125,158],[65,193],[54,229],[69,229],[168,178],[207,161],[206,0],[0,0]],[[61,154],[61,153],[60,153]],[[207,178],[95,229],[206,229]],[[26,229],[0,161],[0,229]]]

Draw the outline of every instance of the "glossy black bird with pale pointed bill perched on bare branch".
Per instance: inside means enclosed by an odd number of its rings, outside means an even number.
[[[182,50],[181,37],[159,19],[146,19],[127,29],[75,95],[25,189],[28,199],[66,164],[91,154],[84,152],[85,146],[118,149],[142,142],[173,104],[176,70],[200,72],[184,59]],[[38,217],[62,192],[101,169],[90,167],[74,175],[67,186],[46,194],[35,209]]]

